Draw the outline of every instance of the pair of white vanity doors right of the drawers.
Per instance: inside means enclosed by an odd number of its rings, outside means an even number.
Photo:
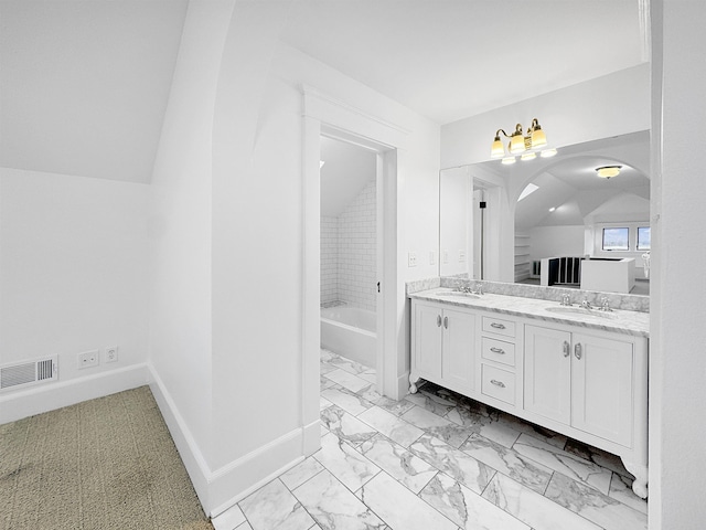
[[[525,326],[524,409],[632,447],[634,344],[630,338]]]

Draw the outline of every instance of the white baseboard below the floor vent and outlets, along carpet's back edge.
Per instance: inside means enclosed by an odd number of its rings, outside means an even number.
[[[0,424],[148,384],[146,363],[56,381],[0,396]]]

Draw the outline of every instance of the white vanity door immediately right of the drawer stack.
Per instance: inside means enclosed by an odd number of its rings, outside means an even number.
[[[571,422],[571,333],[525,326],[524,409]]]

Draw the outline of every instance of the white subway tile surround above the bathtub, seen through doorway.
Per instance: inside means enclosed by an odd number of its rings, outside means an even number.
[[[376,309],[376,184],[372,180],[338,218],[321,218],[321,303]]]

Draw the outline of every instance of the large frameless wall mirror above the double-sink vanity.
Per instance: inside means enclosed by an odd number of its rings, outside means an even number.
[[[445,169],[439,201],[440,276],[649,294],[649,131]]]

